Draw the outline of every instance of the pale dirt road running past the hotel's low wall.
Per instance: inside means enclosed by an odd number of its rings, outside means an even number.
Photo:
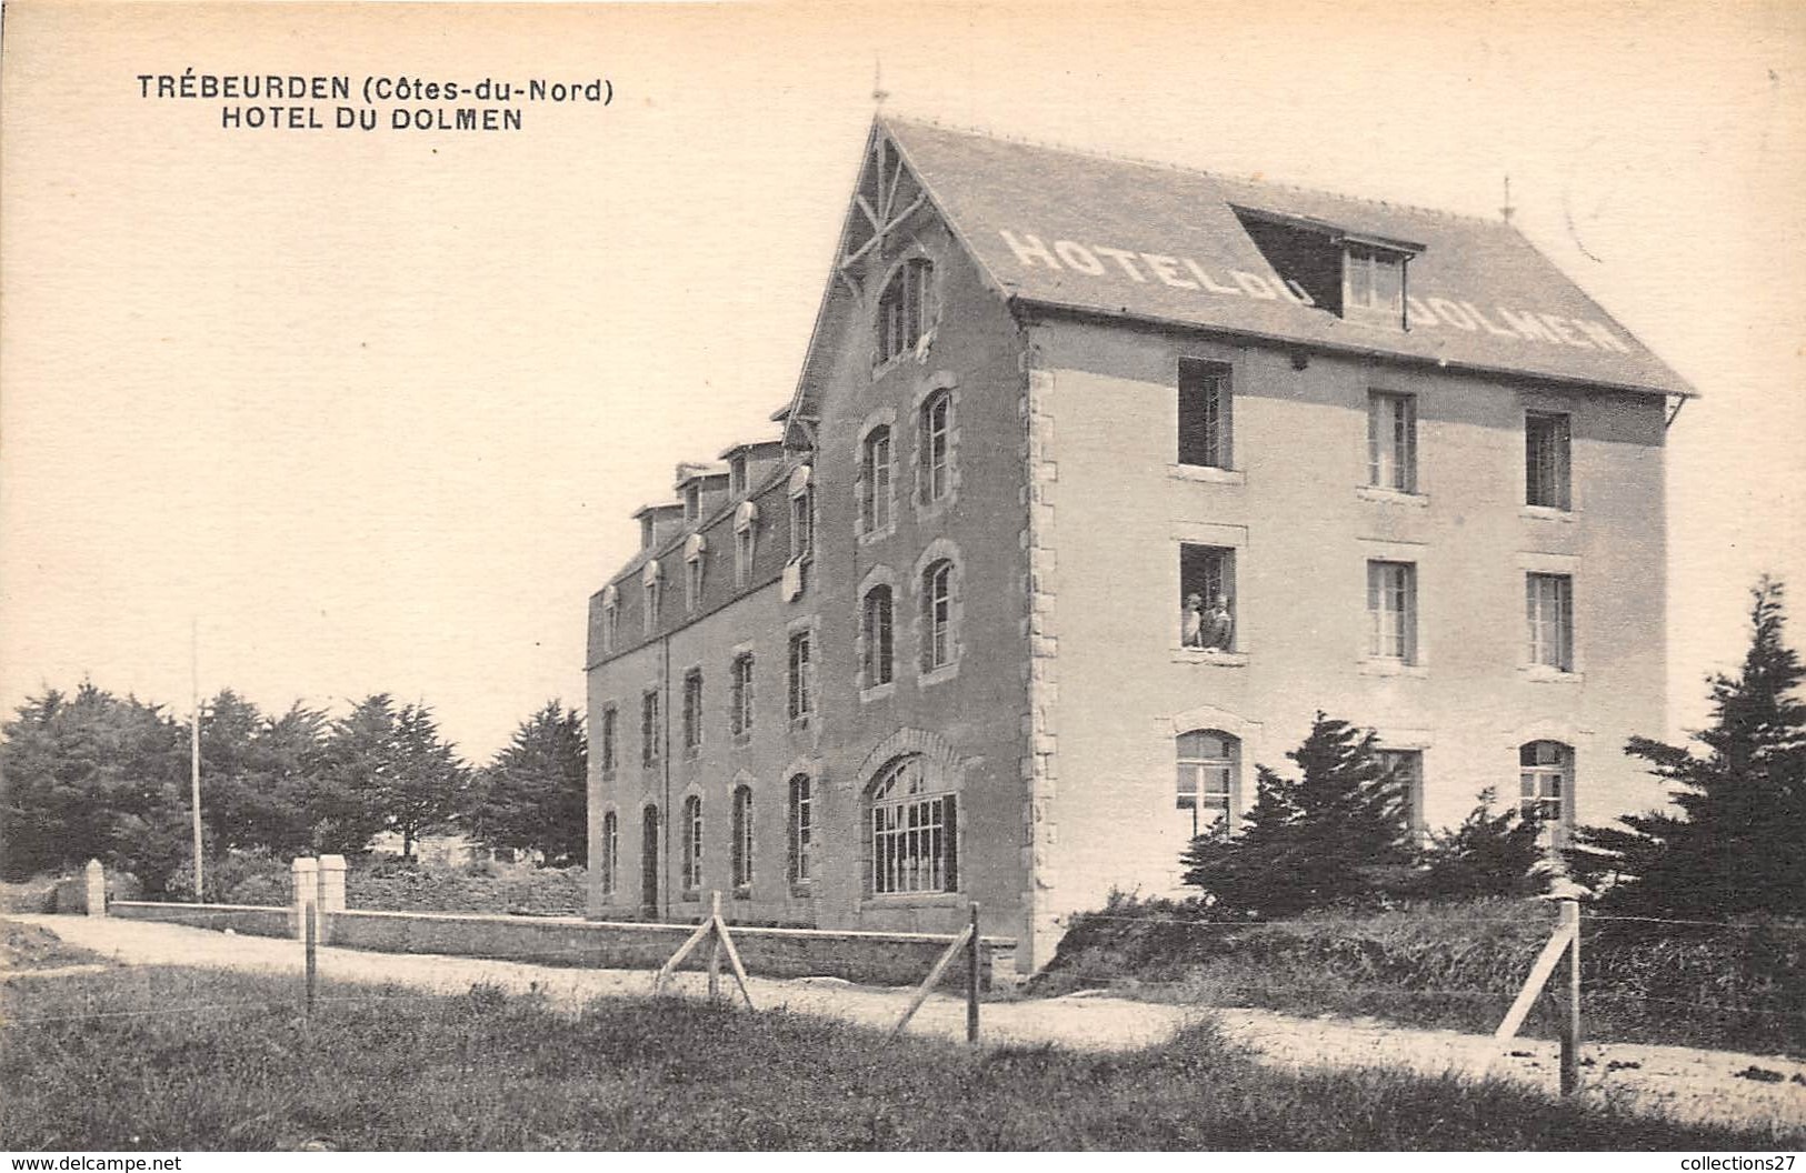
[[[217,965],[258,973],[300,973],[302,947],[293,940],[237,937],[209,929],[143,920],[87,917],[23,917],[65,942],[132,965]],[[601,996],[650,991],[645,971],[560,969],[515,962],[320,949],[325,980],[397,982],[432,993],[462,993],[475,982],[507,991],[542,991],[562,1009]],[[726,982],[731,989],[731,978]],[[677,974],[686,994],[704,993],[703,974]],[[789,1009],[889,1027],[903,1012],[908,991],[851,985],[833,978],[751,980],[760,1009]],[[1373,1020],[1293,1018],[1273,1011],[1174,1007],[1122,998],[1076,996],[986,1003],[982,1036],[990,1045],[1055,1043],[1085,1050],[1134,1050],[1161,1043],[1194,1016],[1215,1014],[1233,1041],[1284,1068],[1398,1067],[1439,1076],[1494,1076],[1557,1094],[1559,1056],[1551,1039],[1495,1043],[1454,1030],[1412,1030]],[[934,996],[910,1023],[912,1034],[964,1038],[959,998]],[[1591,1059],[1589,1065],[1586,1061]],[[1777,1128],[1777,1141],[1806,1146],[1806,1063],[1772,1056],[1643,1043],[1589,1043],[1582,1048],[1586,1095],[1640,1112],[1701,1122]],[[1775,1081],[1741,1077],[1759,1068]]]

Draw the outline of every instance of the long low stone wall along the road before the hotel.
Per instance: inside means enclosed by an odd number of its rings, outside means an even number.
[[[114,901],[108,915],[168,920],[256,937],[293,937],[287,908],[238,904],[148,904]],[[340,911],[323,917],[321,942],[379,953],[442,953],[488,956],[535,965],[592,969],[657,969],[695,931],[694,924],[634,924],[578,917],[488,917],[464,913]],[[748,973],[769,978],[829,976],[870,985],[916,985],[946,951],[952,937],[934,933],[836,933],[827,929],[759,929],[730,926]],[[683,969],[703,969],[708,949],[695,949]],[[1011,973],[1015,940],[979,940],[979,982]],[[964,965],[948,967],[946,984],[964,982]]]

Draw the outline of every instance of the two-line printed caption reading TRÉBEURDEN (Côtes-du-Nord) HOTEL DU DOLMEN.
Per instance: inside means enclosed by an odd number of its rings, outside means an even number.
[[[607,78],[137,74],[144,99],[219,103],[222,130],[520,130],[529,105],[614,101]]]

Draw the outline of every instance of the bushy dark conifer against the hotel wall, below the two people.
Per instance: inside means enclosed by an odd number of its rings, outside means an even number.
[[[1239,915],[1371,902],[1389,886],[1389,872],[1410,861],[1403,799],[1374,734],[1317,713],[1304,744],[1286,756],[1300,776],[1259,767],[1259,798],[1241,834],[1194,839],[1181,857],[1185,882]]]

